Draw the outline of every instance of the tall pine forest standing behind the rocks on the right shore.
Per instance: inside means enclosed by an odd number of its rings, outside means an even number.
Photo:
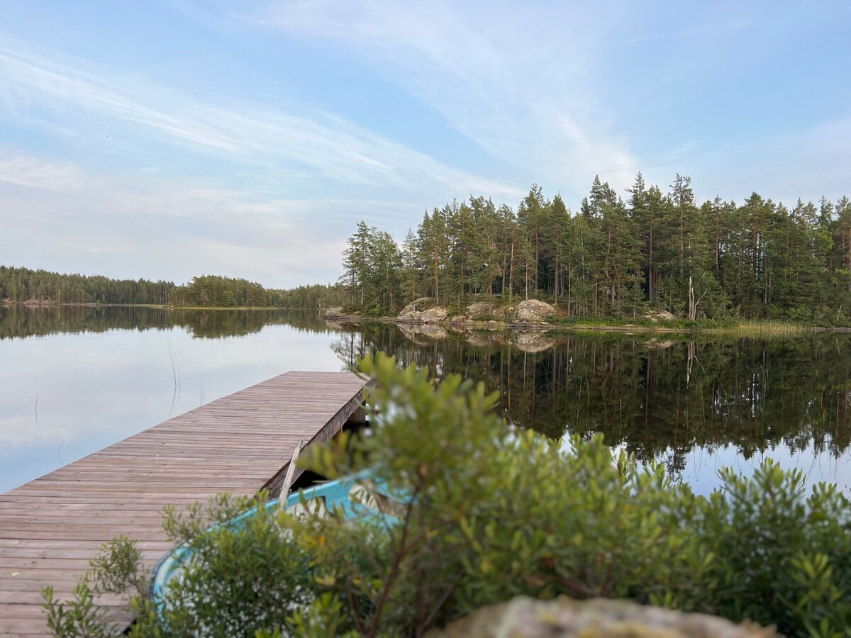
[[[691,319],[848,322],[851,202],[790,209],[752,193],[740,204],[698,203],[688,177],[677,174],[665,192],[638,174],[625,197],[595,178],[574,213],[533,185],[516,210],[484,197],[434,208],[401,246],[362,221],[343,266],[346,304],[372,313],[419,297],[449,305],[488,294],[548,299],[570,316],[654,308]]]

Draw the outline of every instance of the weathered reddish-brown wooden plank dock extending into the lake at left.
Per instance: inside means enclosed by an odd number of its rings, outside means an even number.
[[[47,635],[42,588],[70,598],[117,534],[156,563],[171,547],[163,505],[280,490],[297,441],[334,436],[365,383],[352,373],[282,374],[0,494],[0,635]]]

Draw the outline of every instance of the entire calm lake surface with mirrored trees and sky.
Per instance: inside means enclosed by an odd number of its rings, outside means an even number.
[[[498,390],[511,423],[603,435],[699,493],[762,459],[851,493],[851,335],[447,333],[314,313],[0,307],[0,491],[288,370],[385,350]]]

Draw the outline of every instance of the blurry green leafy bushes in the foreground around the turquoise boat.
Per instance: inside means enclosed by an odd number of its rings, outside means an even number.
[[[166,529],[196,551],[157,613],[138,552],[117,539],[70,605],[46,592],[57,635],[108,635],[94,604],[123,591],[132,635],[422,635],[517,595],[625,598],[786,635],[847,635],[851,507],[836,487],[768,461],[752,478],[722,470],[711,498],[671,484],[661,466],[613,459],[602,437],[550,441],[506,427],[483,385],[391,358],[363,362],[374,428],[311,447],[326,476],[365,467],[397,495],[397,523],[260,508],[221,496],[168,510]],[[210,518],[219,526],[207,528]]]

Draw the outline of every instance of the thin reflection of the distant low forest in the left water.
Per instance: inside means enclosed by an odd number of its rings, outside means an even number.
[[[146,306],[0,306],[0,339],[50,333],[103,333],[107,330],[183,328],[199,338],[258,333],[265,326],[289,325],[307,332],[330,328],[318,312],[302,310],[188,310]]]

